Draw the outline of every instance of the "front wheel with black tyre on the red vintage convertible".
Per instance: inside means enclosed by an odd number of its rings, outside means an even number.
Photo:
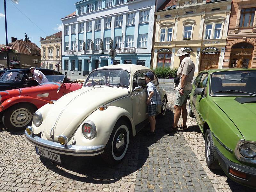
[[[11,132],[25,129],[32,123],[36,107],[28,103],[19,103],[7,108],[3,115],[3,124]]]

